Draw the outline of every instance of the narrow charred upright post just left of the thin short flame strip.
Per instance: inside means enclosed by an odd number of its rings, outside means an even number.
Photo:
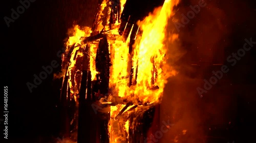
[[[80,47],[81,48],[81,47]],[[82,72],[78,97],[78,133],[77,143],[93,143],[96,140],[96,131],[93,130],[92,104],[92,75],[90,69],[90,46],[82,49]],[[94,131],[94,132],[93,132]]]

